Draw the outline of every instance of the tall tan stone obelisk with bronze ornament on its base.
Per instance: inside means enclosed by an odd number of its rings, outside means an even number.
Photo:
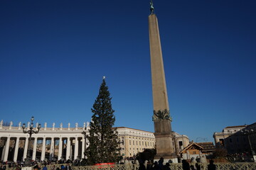
[[[164,62],[161,52],[159,27],[151,1],[149,15],[149,44],[151,56],[151,79],[154,104],[154,135],[156,137],[156,157],[172,159],[176,162],[174,139],[171,132],[171,116],[164,75]]]

